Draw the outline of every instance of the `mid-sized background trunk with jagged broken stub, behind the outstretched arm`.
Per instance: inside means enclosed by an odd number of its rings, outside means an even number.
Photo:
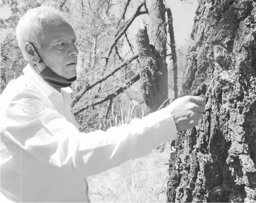
[[[149,36],[143,25],[136,33],[143,98],[149,112],[155,112],[168,99],[166,59],[166,22],[163,0],[151,0],[148,6]],[[168,101],[165,102],[165,105]]]

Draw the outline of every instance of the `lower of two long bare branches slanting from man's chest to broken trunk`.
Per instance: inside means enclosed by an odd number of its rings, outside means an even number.
[[[96,106],[96,105],[98,105],[98,104],[101,104],[101,103],[103,103],[103,102],[105,102],[105,101],[108,101],[108,100],[111,100],[111,99],[113,100],[113,98],[115,98],[118,94],[122,93],[122,92],[123,92],[124,90],[126,90],[128,87],[132,86],[132,85],[133,85],[136,81],[138,81],[139,79],[140,79],[140,75],[138,74],[138,75],[136,75],[131,81],[128,81],[125,86],[120,87],[120,88],[117,89],[115,92],[113,92],[112,94],[106,96],[105,98],[103,98],[103,99],[101,99],[101,100],[98,100],[98,101],[96,101],[96,102],[94,102],[94,103],[92,103],[92,104],[88,104],[88,105],[86,105],[86,106],[84,106],[84,107],[82,107],[82,108],[78,108],[78,110],[75,111],[73,114],[76,116],[77,114],[83,112],[84,110],[86,110],[86,109],[88,109],[88,108],[90,108],[90,107],[94,107],[94,106]]]

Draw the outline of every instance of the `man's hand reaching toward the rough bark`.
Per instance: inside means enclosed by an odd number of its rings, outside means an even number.
[[[166,107],[173,116],[177,131],[195,127],[203,118],[206,101],[199,96],[184,96],[174,100]]]

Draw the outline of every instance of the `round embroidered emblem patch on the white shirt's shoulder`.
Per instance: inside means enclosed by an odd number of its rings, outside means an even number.
[[[35,97],[24,98],[21,107],[22,111],[29,115],[36,115],[44,110],[43,103]]]

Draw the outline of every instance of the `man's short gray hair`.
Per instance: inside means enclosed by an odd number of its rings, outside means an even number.
[[[29,58],[24,48],[25,42],[31,42],[37,49],[41,49],[45,27],[59,20],[68,22],[64,12],[47,6],[28,10],[20,18],[16,27],[16,38],[27,61],[29,61]]]

